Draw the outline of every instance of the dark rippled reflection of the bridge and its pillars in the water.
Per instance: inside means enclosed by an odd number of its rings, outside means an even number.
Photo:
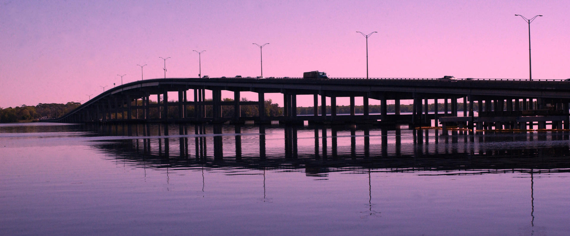
[[[96,148],[135,166],[156,168],[304,168],[307,175],[345,168],[474,173],[570,168],[568,132],[442,135],[441,130],[369,126],[184,124],[91,128],[98,136],[121,136],[96,143]]]

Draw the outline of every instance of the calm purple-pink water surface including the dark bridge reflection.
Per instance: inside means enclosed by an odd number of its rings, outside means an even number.
[[[2,124],[0,235],[567,235],[569,133],[447,134]]]

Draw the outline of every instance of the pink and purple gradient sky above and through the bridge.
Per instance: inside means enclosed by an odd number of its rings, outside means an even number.
[[[0,107],[85,102],[119,85],[117,74],[140,80],[137,64],[144,78],[164,77],[159,57],[171,57],[166,77],[197,77],[193,50],[206,50],[202,75],[259,76],[253,43],[270,43],[265,77],[366,77],[366,39],[356,31],[378,32],[368,38],[370,77],[528,78],[528,23],[515,14],[544,15],[531,23],[532,78],[565,79],[568,12],[567,0],[0,0]],[[282,95],[266,98],[282,105]]]

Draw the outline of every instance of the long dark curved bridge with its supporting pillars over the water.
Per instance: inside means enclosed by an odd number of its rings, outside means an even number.
[[[193,99],[187,98],[193,90]],[[205,99],[205,90],[211,90],[213,99]],[[234,92],[234,101],[222,101],[221,91]],[[258,93],[258,101],[241,101],[240,92]],[[178,100],[168,101],[168,92],[178,92]],[[264,94],[283,94],[283,115],[265,115]],[[296,113],[296,96],[313,95],[314,114]],[[155,96],[157,103],[151,103]],[[162,98],[161,98],[162,96]],[[319,97],[321,104],[318,106]],[[331,98],[327,104],[326,98]],[[336,98],[349,97],[351,114],[336,114]],[[363,97],[364,114],[355,114],[355,97]],[[380,100],[381,114],[369,114],[369,99]],[[191,101],[190,101],[191,100]],[[400,100],[413,100],[411,115],[400,113]],[[444,103],[442,111],[428,114],[428,100]],[[457,102],[463,102],[463,114],[458,115]],[[387,114],[388,101],[393,101],[395,114]],[[76,109],[53,119],[55,122],[245,122],[267,123],[279,121],[299,123],[345,122],[405,122],[415,126],[430,125],[431,120],[447,117],[446,122],[462,123],[482,129],[526,129],[534,119],[518,119],[522,116],[539,117],[541,122],[551,122],[553,128],[570,129],[568,104],[570,81],[561,80],[513,80],[513,79],[458,79],[439,78],[155,78],[129,82],[109,89]],[[241,106],[257,105],[257,117],[242,117]],[[487,117],[477,123],[474,105],[479,116]],[[222,106],[233,106],[231,117],[222,116]],[[327,114],[326,106],[330,106]],[[206,111],[208,111],[206,113]],[[548,111],[548,112],[546,112]],[[548,115],[556,115],[550,120]],[[564,118],[560,119],[560,115]],[[458,119],[454,119],[458,117]],[[461,118],[459,118],[461,117]],[[510,117],[506,119],[505,117]],[[496,118],[496,119],[495,119]],[[520,122],[528,121],[528,122]],[[438,122],[435,122],[437,125]],[[451,123],[448,123],[451,124]]]

